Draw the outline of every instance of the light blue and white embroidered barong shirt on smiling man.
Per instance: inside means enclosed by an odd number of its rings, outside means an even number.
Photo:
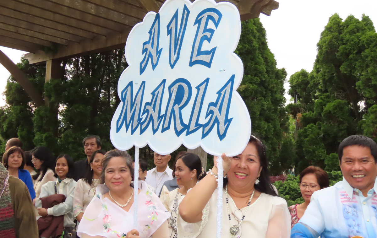
[[[377,180],[366,197],[344,179],[316,191],[291,238],[375,238],[377,234]]]

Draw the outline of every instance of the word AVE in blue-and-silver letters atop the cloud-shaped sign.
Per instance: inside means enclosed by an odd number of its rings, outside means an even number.
[[[167,35],[170,37],[169,46],[169,64],[173,69],[177,61],[179,60],[179,55],[181,52],[182,41],[185,36],[187,20],[189,18],[190,11],[186,5],[183,7],[181,24],[178,29],[178,9],[173,15],[170,22],[167,24]],[[202,50],[202,44],[204,41],[211,42],[214,29],[207,28],[209,21],[215,25],[216,29],[221,21],[222,14],[216,8],[207,8],[199,12],[195,18],[194,26],[197,26],[195,38],[192,44],[192,50],[190,55],[189,66],[195,64],[201,64],[208,68],[211,68],[213,56],[216,52],[216,47],[211,50]],[[143,43],[143,54],[144,58],[140,62],[140,75],[142,75],[147,68],[148,62],[150,60],[152,64],[152,70],[158,65],[159,58],[161,56],[162,48],[159,48],[159,38],[160,38],[160,15],[156,14],[155,20],[149,30],[149,40]]]

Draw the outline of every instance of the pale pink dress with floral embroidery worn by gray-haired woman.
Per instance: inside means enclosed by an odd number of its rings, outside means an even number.
[[[149,238],[170,217],[157,195],[151,192],[144,181],[139,181],[138,223],[140,238]],[[136,189],[135,189],[136,191]],[[133,204],[128,212],[104,198],[109,192],[106,185],[98,185],[95,197],[87,206],[77,229],[77,235],[107,238],[125,237],[133,229]]]

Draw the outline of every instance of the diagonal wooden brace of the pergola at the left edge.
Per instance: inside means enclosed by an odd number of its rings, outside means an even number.
[[[30,98],[34,101],[37,107],[44,104],[42,96],[38,93],[37,88],[29,81],[28,77],[26,77],[25,73],[23,73],[17,65],[15,65],[8,56],[5,55],[0,50],[0,64],[2,64],[5,69],[11,73],[13,78],[17,80],[17,82],[23,87],[23,89],[28,93]]]

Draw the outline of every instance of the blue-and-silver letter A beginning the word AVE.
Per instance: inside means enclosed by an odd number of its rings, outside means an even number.
[[[152,26],[149,29],[149,40],[143,43],[144,58],[140,62],[140,75],[148,66],[149,58],[152,64],[152,70],[155,70],[158,60],[160,59],[162,48],[158,49],[160,41],[160,14],[157,13]]]

